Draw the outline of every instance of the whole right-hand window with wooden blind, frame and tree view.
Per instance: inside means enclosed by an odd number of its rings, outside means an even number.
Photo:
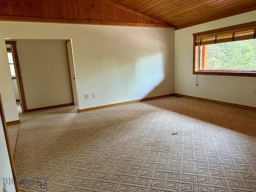
[[[252,23],[193,34],[193,74],[256,76],[256,26],[246,26]]]

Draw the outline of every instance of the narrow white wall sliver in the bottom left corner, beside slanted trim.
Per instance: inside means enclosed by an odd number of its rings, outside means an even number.
[[[6,140],[4,136],[4,128],[2,124],[2,119],[0,116],[0,191],[2,191],[4,179],[3,178],[13,178],[12,176],[12,168],[10,164],[10,159],[8,156],[8,150],[6,146]],[[9,179],[8,179],[9,181]],[[15,192],[14,184],[7,184],[8,192]]]

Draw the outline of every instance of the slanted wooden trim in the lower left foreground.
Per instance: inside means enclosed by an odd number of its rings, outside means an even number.
[[[0,116],[1,116],[2,124],[3,124],[3,128],[4,128],[4,137],[5,137],[5,140],[6,140],[6,146],[7,146],[7,150],[8,150],[9,159],[10,159],[14,185],[15,185],[16,192],[19,192],[19,186],[18,186],[18,182],[17,182],[17,175],[16,175],[14,160],[13,160],[13,157],[12,157],[12,152],[11,152],[11,147],[10,147],[9,134],[8,134],[7,126],[6,126],[6,120],[5,120],[5,116],[4,116],[4,108],[3,108],[3,104],[2,104],[1,94],[0,94]]]

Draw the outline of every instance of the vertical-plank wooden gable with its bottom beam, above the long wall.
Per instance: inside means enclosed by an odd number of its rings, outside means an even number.
[[[109,0],[1,0],[0,20],[174,27]]]

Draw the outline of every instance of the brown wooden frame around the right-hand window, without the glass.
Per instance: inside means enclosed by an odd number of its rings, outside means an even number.
[[[250,76],[256,77],[256,71],[242,71],[242,70],[199,70],[199,48],[196,46],[196,37],[203,36],[203,35],[210,35],[222,32],[228,32],[231,30],[243,30],[244,28],[248,27],[255,27],[256,28],[256,21],[209,30],[205,32],[199,32],[193,34],[193,74],[196,75],[224,75],[224,76]]]

